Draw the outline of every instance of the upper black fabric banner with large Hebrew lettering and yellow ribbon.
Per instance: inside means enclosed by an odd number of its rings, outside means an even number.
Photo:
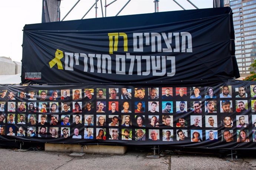
[[[229,7],[24,26],[23,84],[233,77],[239,72]]]

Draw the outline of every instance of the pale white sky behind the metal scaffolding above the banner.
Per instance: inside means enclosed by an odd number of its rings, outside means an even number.
[[[62,0],[60,3],[60,20],[68,13],[78,0]],[[106,0],[107,4],[114,0]],[[117,0],[106,9],[107,17],[115,16],[128,0]],[[121,11],[121,15],[154,13],[154,0],[131,0]],[[186,10],[195,9],[187,0],[176,0]],[[212,8],[213,0],[190,0],[198,8]],[[91,8],[95,0],[80,0],[76,7],[65,18],[67,20],[78,20]],[[105,6],[105,0],[102,0]],[[98,17],[102,17],[100,0],[98,1]],[[160,0],[159,12],[183,10],[173,0]],[[105,14],[105,7],[104,14]],[[22,59],[23,27],[25,24],[41,23],[42,0],[1,0],[0,4],[0,56],[10,57],[13,61]],[[95,18],[95,8],[85,16]]]

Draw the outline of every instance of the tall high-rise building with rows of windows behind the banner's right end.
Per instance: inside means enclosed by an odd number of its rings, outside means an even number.
[[[233,12],[236,60],[240,74],[249,74],[256,59],[256,0],[224,0]]]

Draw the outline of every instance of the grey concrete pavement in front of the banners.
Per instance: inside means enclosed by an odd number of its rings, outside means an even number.
[[[129,151],[118,154],[88,154],[81,157],[69,156],[69,152],[27,151],[14,152],[17,149],[0,148],[0,169],[20,170],[256,170],[255,156],[233,159],[230,156],[219,158],[217,154],[188,154],[162,152],[159,159],[147,158],[145,151]],[[252,151],[253,152],[253,151]]]

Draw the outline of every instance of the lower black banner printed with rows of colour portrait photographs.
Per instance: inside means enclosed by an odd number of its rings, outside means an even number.
[[[239,84],[2,86],[0,138],[256,142],[256,85]]]

